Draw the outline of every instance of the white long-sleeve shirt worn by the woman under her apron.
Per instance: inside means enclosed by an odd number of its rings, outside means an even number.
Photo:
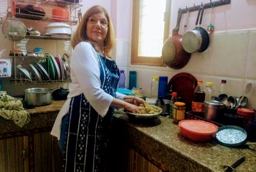
[[[113,97],[100,89],[100,68],[98,54],[90,43],[81,42],[74,48],[70,61],[70,84],[68,99],[61,108],[52,127],[51,134],[60,139],[61,120],[68,113],[71,98],[84,94],[92,107],[104,117],[108,112]],[[125,95],[116,92],[116,98],[124,99]]]

